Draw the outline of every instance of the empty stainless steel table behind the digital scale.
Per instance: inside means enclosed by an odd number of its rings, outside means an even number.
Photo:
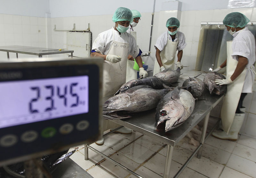
[[[16,53],[16,58],[18,58],[18,53],[20,54],[30,54],[36,55],[39,58],[42,58],[44,55],[51,55],[51,54],[63,54],[63,53],[71,53],[71,58],[73,57],[73,50],[59,50],[59,49],[52,49],[52,48],[39,48],[39,47],[31,47],[31,46],[0,46],[0,51],[7,52],[7,58],[9,57],[9,52]]]

